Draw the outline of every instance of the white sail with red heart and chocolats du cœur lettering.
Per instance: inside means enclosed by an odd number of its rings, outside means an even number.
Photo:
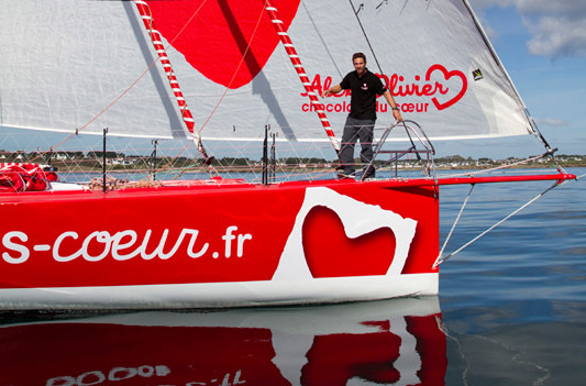
[[[259,137],[270,124],[291,141],[327,141],[264,1],[147,3],[204,139]],[[352,54],[363,52],[369,70],[388,79],[403,118],[431,139],[530,132],[523,102],[466,1],[274,3],[317,92],[340,82]],[[1,125],[186,136],[161,64],[147,70],[156,53],[134,2],[10,1],[0,23]],[[340,136],[350,97],[321,101]],[[379,101],[377,125],[392,123]]]

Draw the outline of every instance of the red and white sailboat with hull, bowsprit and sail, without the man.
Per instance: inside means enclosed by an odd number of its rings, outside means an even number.
[[[64,183],[51,165],[0,165],[4,309],[436,295],[441,186],[575,178],[561,168],[435,175],[438,140],[529,134],[544,158],[554,152],[465,0],[22,0],[3,4],[0,22],[4,130],[63,133],[41,157],[81,135],[103,139],[92,148],[103,155],[97,189]],[[417,156],[421,176],[342,180],[333,165],[325,177],[278,180],[264,156],[262,181],[109,181],[113,137],[183,140],[210,168],[213,144],[257,142],[266,154],[269,136],[277,150],[317,142],[335,158],[350,97],[319,95],[356,49],[373,53],[371,70],[408,118],[379,123],[377,156]],[[385,147],[402,142],[410,147]]]

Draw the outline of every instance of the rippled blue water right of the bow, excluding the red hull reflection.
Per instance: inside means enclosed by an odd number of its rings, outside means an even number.
[[[456,229],[454,244],[471,240],[480,220],[498,221],[546,187],[516,184],[502,197],[502,186],[478,186],[472,220]],[[442,265],[447,385],[584,384],[585,187],[579,180],[548,192]],[[443,194],[442,214],[453,217],[461,200]],[[451,227],[445,220],[442,231]]]

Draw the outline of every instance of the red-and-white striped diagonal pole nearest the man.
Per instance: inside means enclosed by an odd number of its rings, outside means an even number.
[[[330,139],[330,142],[332,143],[335,153],[338,154],[340,153],[340,144],[335,139],[328,117],[325,117],[325,112],[323,111],[323,103],[320,103],[318,97],[316,96],[316,92],[313,91],[313,88],[311,87],[311,81],[309,80],[309,77],[306,74],[303,65],[301,64],[301,59],[299,58],[299,55],[297,55],[297,51],[295,49],[289,34],[283,26],[283,19],[280,18],[278,10],[273,5],[270,0],[264,0],[264,2],[266,13],[270,19],[270,22],[273,22],[275,30],[277,30],[277,34],[279,35],[280,42],[283,43],[287,55],[289,55],[289,59],[291,60],[291,64],[297,71],[297,75],[299,75],[299,80],[301,80],[301,84],[303,85],[307,95],[311,100],[311,104],[316,108],[316,112],[318,113],[320,122],[323,125],[323,129],[325,130],[325,134],[328,134],[328,137]]]

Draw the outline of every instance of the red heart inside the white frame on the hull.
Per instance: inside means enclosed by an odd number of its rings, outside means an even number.
[[[349,239],[338,214],[314,207],[306,216],[302,244],[313,277],[385,275],[395,256],[395,234],[380,228]]]

